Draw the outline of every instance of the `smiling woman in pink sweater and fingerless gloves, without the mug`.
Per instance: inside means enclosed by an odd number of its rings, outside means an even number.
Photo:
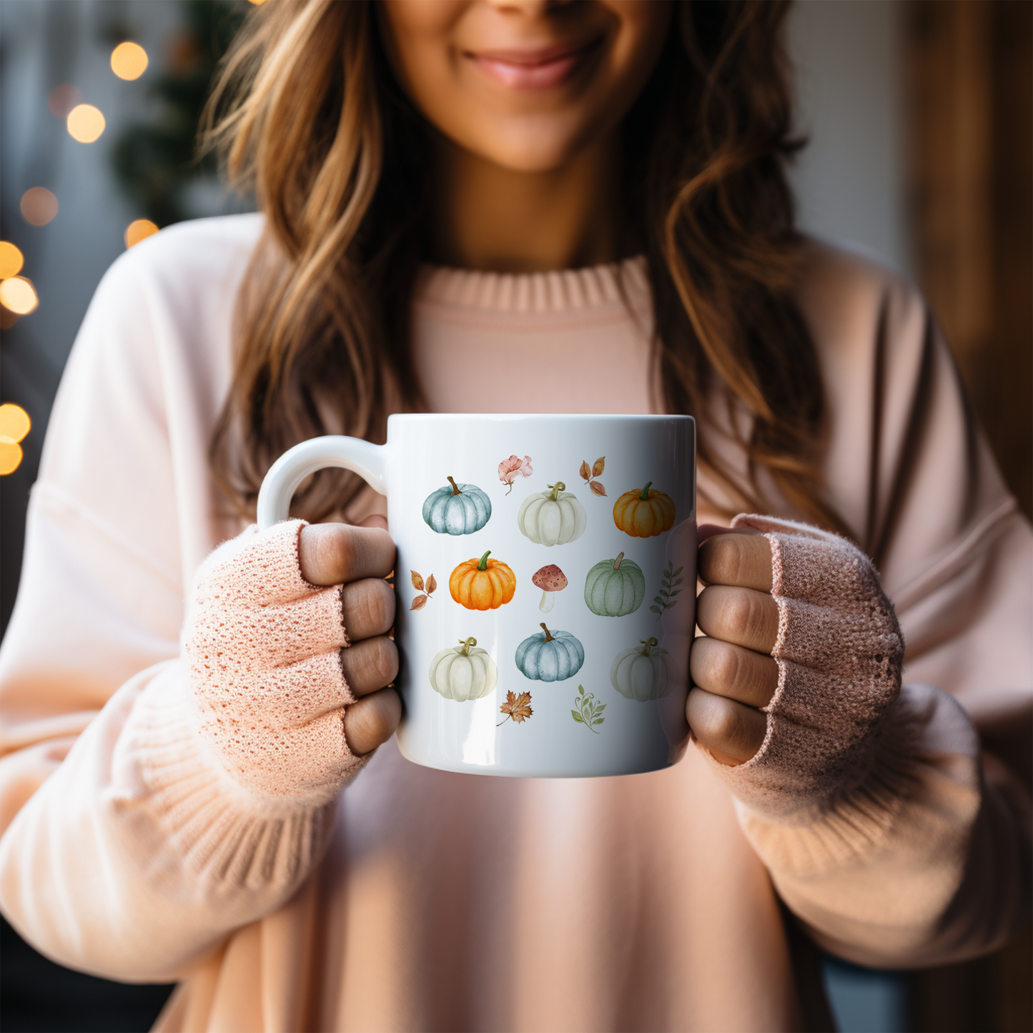
[[[0,902],[39,949],[181,980],[163,1030],[782,1030],[827,1022],[813,942],[914,966],[1021,925],[1029,801],[976,728],[1029,710],[1030,528],[913,289],[793,229],[784,12],[251,15],[216,135],[262,214],[116,262],[33,493]],[[294,442],[535,411],[544,367],[567,411],[700,421],[661,773],[407,763],[382,500],[322,474],[309,525],[245,529]]]

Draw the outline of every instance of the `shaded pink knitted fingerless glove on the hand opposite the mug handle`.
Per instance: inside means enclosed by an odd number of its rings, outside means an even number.
[[[768,516],[741,514],[732,527],[771,542],[779,679],[760,749],[717,766],[748,807],[786,817],[870,775],[873,732],[900,692],[904,639],[875,568],[845,538]]]

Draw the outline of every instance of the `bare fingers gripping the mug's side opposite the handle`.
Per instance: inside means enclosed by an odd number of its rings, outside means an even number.
[[[696,624],[706,637],[692,644],[689,670],[695,685],[686,717],[693,734],[717,760],[740,764],[764,741],[760,711],[778,686],[772,650],[779,612],[772,592],[772,553],[756,532],[725,532],[703,525]],[[708,536],[709,535],[709,536]]]

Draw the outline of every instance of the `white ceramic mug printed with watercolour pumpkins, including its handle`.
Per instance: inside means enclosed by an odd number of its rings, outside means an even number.
[[[387,496],[408,759],[544,778],[675,761],[695,627],[691,416],[394,415],[384,445],[322,437],[280,457],[259,526],[328,466]]]

